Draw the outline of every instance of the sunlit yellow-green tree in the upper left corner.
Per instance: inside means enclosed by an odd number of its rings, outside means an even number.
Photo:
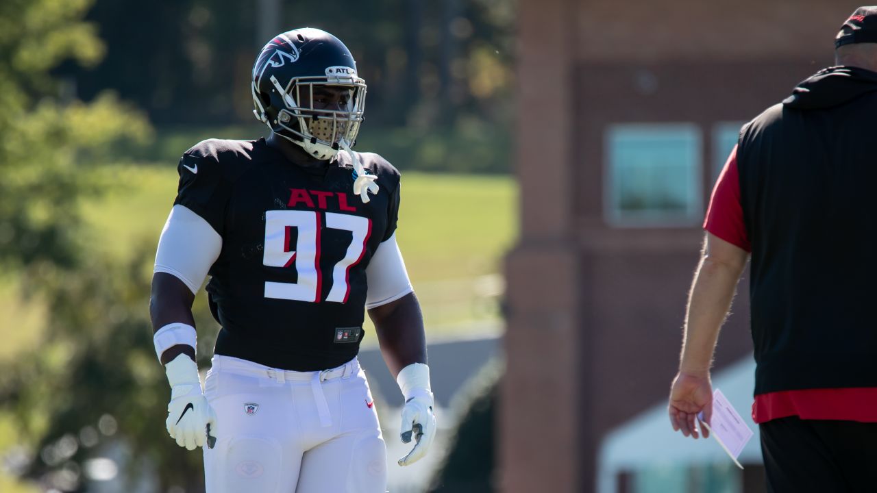
[[[111,144],[143,142],[138,111],[103,92],[89,104],[65,98],[52,68],[94,65],[103,44],[79,19],[89,0],[0,3],[0,261],[31,267],[75,264],[77,201],[99,187],[89,170],[113,156]]]

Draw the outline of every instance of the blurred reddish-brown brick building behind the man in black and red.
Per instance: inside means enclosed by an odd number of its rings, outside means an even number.
[[[603,437],[666,399],[717,170],[858,5],[518,0],[503,491],[594,490]],[[746,298],[717,369],[751,352]]]

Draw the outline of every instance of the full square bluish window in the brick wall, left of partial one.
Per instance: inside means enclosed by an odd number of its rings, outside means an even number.
[[[604,211],[610,225],[700,223],[702,151],[697,125],[611,125],[606,153]]]

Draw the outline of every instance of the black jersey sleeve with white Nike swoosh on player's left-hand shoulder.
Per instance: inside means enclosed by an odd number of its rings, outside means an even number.
[[[174,204],[189,208],[222,236],[232,187],[219,162],[213,155],[200,152],[196,146],[182,154],[177,172],[180,184]]]

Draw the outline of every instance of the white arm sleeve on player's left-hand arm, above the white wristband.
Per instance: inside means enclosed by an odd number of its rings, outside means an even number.
[[[177,204],[161,230],[153,273],[174,275],[196,294],[220,250],[219,233],[204,218]]]

